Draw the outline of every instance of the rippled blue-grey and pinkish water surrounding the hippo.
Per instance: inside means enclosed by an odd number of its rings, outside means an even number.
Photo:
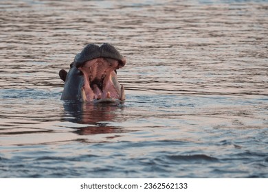
[[[268,178],[268,2],[0,1],[1,178]],[[112,43],[123,104],[60,101]]]

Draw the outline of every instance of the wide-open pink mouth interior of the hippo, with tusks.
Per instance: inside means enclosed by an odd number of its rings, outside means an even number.
[[[124,64],[111,58],[95,58],[78,67],[84,76],[82,101],[124,100],[124,86],[119,84],[116,75],[116,70]]]

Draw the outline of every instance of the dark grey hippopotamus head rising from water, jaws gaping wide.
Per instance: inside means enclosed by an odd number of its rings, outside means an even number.
[[[65,82],[62,100],[82,102],[124,101],[124,86],[120,85],[117,70],[124,67],[126,58],[109,43],[89,44],[70,64],[69,72],[61,69]]]

